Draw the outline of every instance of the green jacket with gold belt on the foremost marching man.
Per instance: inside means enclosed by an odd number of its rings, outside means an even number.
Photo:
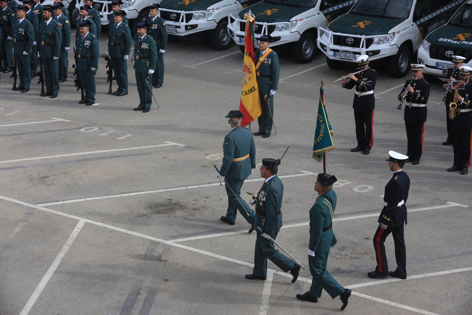
[[[256,146],[253,134],[249,129],[236,126],[225,136],[223,142],[223,164],[219,170],[221,176],[228,180],[247,179],[251,170],[256,168]],[[249,154],[249,158],[233,162],[233,159]]]

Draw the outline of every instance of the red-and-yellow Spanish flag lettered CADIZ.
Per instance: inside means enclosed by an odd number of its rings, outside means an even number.
[[[244,115],[241,119],[242,127],[249,125],[262,113],[254,65],[254,25],[256,21],[251,11],[246,13],[244,18],[246,19],[246,30],[244,33],[243,91],[239,103],[239,111]]]

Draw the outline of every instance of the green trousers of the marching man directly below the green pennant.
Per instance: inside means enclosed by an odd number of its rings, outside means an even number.
[[[313,276],[312,286],[309,294],[315,298],[321,297],[321,291],[325,289],[331,298],[336,298],[344,292],[344,288],[329,274],[326,270],[326,263],[328,261],[328,254],[308,255],[308,265],[310,266],[310,273]]]

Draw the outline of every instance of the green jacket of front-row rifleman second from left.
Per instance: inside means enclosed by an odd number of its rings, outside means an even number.
[[[51,18],[51,22],[46,26],[43,19],[39,26],[39,54],[42,58],[60,57],[60,47],[62,35],[59,23]],[[54,45],[51,47],[50,45]]]

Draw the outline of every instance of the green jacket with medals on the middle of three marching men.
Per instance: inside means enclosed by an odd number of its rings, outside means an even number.
[[[282,227],[282,197],[284,195],[284,185],[274,175],[267,183],[264,183],[257,193],[256,202],[256,226],[259,226],[266,234],[278,233]],[[265,217],[264,225],[261,224],[261,217]]]

